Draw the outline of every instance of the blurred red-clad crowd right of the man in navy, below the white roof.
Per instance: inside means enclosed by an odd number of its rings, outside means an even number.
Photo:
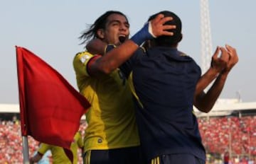
[[[233,163],[256,157],[256,116],[201,117],[198,125],[208,155],[222,159],[225,151]],[[208,159],[210,160],[210,159]]]

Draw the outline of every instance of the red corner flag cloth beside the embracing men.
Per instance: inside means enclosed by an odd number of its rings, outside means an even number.
[[[27,49],[16,47],[16,59],[22,136],[70,149],[89,102]]]

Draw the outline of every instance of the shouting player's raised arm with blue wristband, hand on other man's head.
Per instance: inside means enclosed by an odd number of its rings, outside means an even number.
[[[107,52],[103,57],[99,57],[90,66],[90,72],[95,74],[95,71],[101,71],[104,74],[110,74],[114,69],[117,69],[124,61],[129,59],[132,54],[137,50],[139,45],[146,40],[150,40],[154,37],[159,37],[161,35],[174,35],[174,33],[167,30],[176,28],[175,25],[164,25],[167,21],[171,21],[171,17],[164,17],[163,14],[159,14],[146,23],[144,27],[139,30],[130,40],[125,41],[119,47],[112,49]]]

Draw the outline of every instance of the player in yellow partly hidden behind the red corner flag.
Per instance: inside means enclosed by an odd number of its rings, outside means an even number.
[[[77,132],[74,137],[74,141],[70,146],[70,150],[73,153],[73,164],[78,163],[78,148],[83,147],[83,141],[82,136],[80,132]],[[62,147],[59,146],[53,146],[49,144],[41,143],[38,152],[36,153],[36,156],[33,156],[29,159],[30,163],[37,163],[41,158],[43,157],[43,154],[46,153],[46,151],[50,150],[52,154],[53,164],[72,164],[72,162],[69,160],[68,156],[65,155],[65,151]]]

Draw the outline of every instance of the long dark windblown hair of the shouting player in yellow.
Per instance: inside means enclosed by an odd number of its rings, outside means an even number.
[[[120,11],[105,12],[104,14],[102,14],[102,16],[97,18],[95,23],[93,23],[92,25],[89,25],[89,28],[87,28],[87,30],[85,30],[85,33],[82,33],[82,35],[79,37],[79,39],[82,40],[80,45],[83,45],[83,44],[85,44],[85,42],[98,37],[97,30],[106,28],[107,18],[113,13],[122,15],[127,19],[127,16],[125,16],[124,13],[121,13]],[[127,19],[127,21],[128,21],[128,19]]]

